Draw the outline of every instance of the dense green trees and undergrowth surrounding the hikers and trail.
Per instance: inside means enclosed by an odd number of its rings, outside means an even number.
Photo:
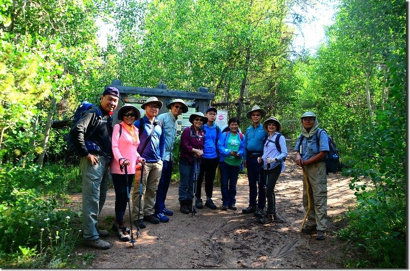
[[[0,1],[0,266],[80,267],[68,257],[81,239],[80,217],[63,206],[81,189],[68,166],[76,161],[64,160],[67,128],[50,126],[120,79],[206,86],[242,130],[257,101],[293,139],[300,115],[314,111],[357,196],[339,231],[358,255],[346,267],[404,268],[405,2],[342,0],[317,53],[296,55],[302,17],[292,9],[309,3]],[[98,17],[118,31],[105,50],[96,44]]]

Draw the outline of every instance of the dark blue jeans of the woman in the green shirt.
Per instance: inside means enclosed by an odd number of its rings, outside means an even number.
[[[222,205],[231,206],[236,204],[236,183],[238,182],[240,166],[231,166],[220,162]]]

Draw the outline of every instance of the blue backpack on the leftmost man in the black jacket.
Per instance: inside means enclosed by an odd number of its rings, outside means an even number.
[[[86,114],[86,112],[92,108],[96,109],[96,114],[99,118],[101,118],[101,116],[103,115],[101,113],[101,110],[99,109],[99,107],[93,103],[89,103],[87,101],[83,101],[81,102],[81,104],[77,107],[77,109],[74,112],[74,116],[73,116],[73,126],[74,127],[78,121],[84,117],[84,115]],[[110,116],[110,121],[112,122],[112,117]],[[98,125],[100,124],[100,122],[97,122],[94,127],[91,129],[91,131],[86,131],[85,135],[84,135],[84,141],[88,141],[88,139],[91,137],[91,135],[93,134],[93,132],[95,131],[95,129],[98,127]],[[71,129],[70,129],[71,130]],[[66,141],[67,141],[67,155],[74,155],[75,154],[75,150],[74,150],[74,146],[73,146],[73,142],[71,139],[71,134],[70,132],[66,135]]]

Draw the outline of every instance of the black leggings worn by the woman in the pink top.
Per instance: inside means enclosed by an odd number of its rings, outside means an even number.
[[[128,190],[127,190],[127,178],[125,174],[111,174],[112,183],[115,190],[115,220],[119,225],[124,224],[124,215],[127,210],[127,203],[130,196],[132,187],[132,180],[135,174],[128,174]]]

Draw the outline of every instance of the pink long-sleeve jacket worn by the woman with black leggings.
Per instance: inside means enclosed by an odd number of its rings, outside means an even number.
[[[122,125],[121,137],[119,137],[119,125]],[[134,143],[132,134],[126,125],[124,122],[115,124],[112,132],[112,153],[114,157],[111,160],[110,172],[113,174],[125,174],[124,169],[121,171],[119,168],[118,160],[120,158],[126,158],[130,161],[130,165],[127,167],[128,174],[135,174],[135,165],[138,158],[141,157],[137,152],[139,145],[138,128],[133,125],[137,136],[137,142]],[[121,160],[121,165],[122,162],[124,160]]]

